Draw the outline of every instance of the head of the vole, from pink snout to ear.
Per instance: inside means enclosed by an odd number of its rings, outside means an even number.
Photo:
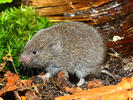
[[[62,51],[61,41],[51,32],[43,29],[27,42],[19,59],[24,66],[45,67]]]

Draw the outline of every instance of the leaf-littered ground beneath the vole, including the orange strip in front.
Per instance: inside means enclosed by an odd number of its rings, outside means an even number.
[[[116,79],[103,73],[98,76],[92,75],[81,87],[77,87],[76,82],[70,81],[76,77],[68,75],[65,70],[45,82],[37,76],[22,80],[17,74],[2,70],[0,97],[8,100],[7,96],[10,94],[14,100],[131,100],[133,99],[132,63],[132,56],[108,57],[105,69],[116,76]]]

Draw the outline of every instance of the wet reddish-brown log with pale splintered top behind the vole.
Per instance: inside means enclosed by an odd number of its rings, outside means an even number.
[[[108,48],[133,54],[133,0],[25,0],[51,22],[82,21],[105,35]],[[114,36],[122,40],[111,42]]]

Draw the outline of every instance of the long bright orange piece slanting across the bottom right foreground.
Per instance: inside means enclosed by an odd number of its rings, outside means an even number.
[[[117,85],[104,86],[76,92],[73,95],[56,97],[55,100],[132,100],[133,76],[123,78]]]

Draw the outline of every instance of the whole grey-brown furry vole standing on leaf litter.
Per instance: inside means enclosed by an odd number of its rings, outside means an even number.
[[[82,22],[58,23],[40,30],[27,42],[20,62],[27,67],[43,67],[47,78],[61,70],[84,77],[100,72],[106,58],[106,42],[92,26]]]

